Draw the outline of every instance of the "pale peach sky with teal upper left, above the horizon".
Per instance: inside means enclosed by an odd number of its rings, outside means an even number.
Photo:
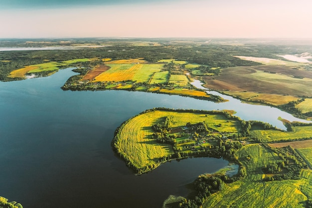
[[[0,38],[312,38],[311,0],[0,0]]]

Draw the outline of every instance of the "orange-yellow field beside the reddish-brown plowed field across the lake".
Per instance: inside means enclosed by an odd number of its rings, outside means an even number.
[[[142,69],[143,64],[107,64],[111,68],[95,77],[94,82],[133,80],[135,74]]]

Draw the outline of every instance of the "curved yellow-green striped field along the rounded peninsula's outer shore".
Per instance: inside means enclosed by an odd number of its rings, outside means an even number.
[[[204,114],[192,112],[178,112],[156,110],[140,114],[130,120],[121,130],[119,142],[120,150],[127,155],[131,163],[138,168],[157,167],[157,160],[160,157],[173,154],[170,145],[159,144],[156,139],[153,139],[152,125],[162,122],[163,117],[173,116],[174,127],[183,127],[187,122],[198,123],[206,121],[220,132],[237,132],[240,129],[238,121],[228,122],[225,116],[219,114]],[[217,126],[218,124],[221,126]]]

